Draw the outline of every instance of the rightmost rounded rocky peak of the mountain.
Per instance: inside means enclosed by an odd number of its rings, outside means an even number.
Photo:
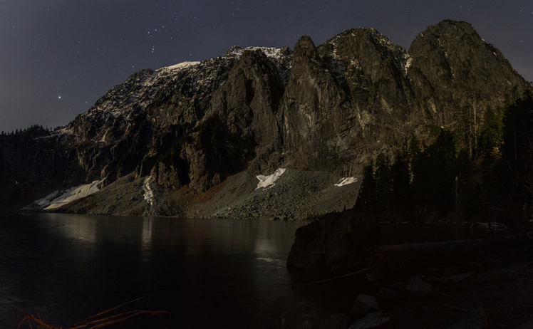
[[[408,52],[408,80],[428,120],[448,125],[457,103],[503,105],[531,86],[465,22],[443,21],[419,33]],[[447,110],[448,109],[448,110]]]

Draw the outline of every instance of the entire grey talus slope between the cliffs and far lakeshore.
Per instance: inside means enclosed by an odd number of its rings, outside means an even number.
[[[190,218],[310,219],[331,211],[349,209],[356,203],[360,182],[335,186],[343,177],[327,172],[286,169],[274,184],[260,182],[248,172],[228,177],[203,194],[184,187],[164,189],[150,182],[153,197],[144,197],[146,177],[128,175],[95,194],[71,202],[60,211],[81,214],[130,216],[179,216]]]

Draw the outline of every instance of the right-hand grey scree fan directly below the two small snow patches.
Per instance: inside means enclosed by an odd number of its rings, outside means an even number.
[[[251,174],[230,177],[222,191],[199,207],[196,216],[236,219],[297,220],[349,209],[359,182],[336,187],[343,177],[326,172],[286,169],[269,187],[256,189]]]

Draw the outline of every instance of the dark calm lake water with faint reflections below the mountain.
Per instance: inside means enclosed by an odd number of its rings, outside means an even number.
[[[6,304],[68,326],[141,296],[179,328],[239,328],[313,310],[285,267],[304,224],[0,215],[0,327],[18,325]]]

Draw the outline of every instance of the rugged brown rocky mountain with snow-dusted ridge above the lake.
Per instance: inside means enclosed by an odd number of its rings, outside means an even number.
[[[318,47],[303,36],[294,51],[234,46],[139,71],[65,127],[0,136],[0,207],[94,181],[149,177],[202,194],[280,167],[357,177],[410,135],[429,142],[434,127],[459,125],[466,106],[482,117],[530,89],[465,22],[429,26],[408,51],[373,28]]]

